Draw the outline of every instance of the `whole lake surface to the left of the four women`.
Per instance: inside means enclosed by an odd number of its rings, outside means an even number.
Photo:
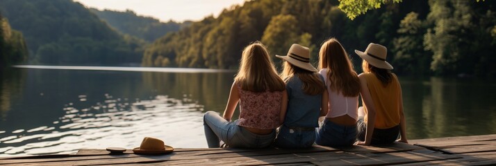
[[[206,147],[203,113],[223,111],[234,75],[23,70],[27,83],[6,88],[23,97],[1,102],[0,156],[133,148],[144,136]]]

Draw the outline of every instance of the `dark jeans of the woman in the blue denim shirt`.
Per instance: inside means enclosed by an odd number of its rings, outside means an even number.
[[[315,141],[315,128],[290,129],[285,125],[279,128],[274,145],[281,148],[312,147]]]

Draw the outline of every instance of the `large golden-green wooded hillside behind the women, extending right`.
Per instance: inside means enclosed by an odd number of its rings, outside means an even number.
[[[241,51],[261,40],[271,55],[285,55],[290,44],[312,49],[336,37],[353,50],[370,42],[388,47],[395,72],[410,75],[496,76],[496,1],[403,0],[386,3],[348,19],[337,0],[257,0],[206,17],[157,39],[143,66],[237,68]],[[277,59],[276,59],[277,60]]]

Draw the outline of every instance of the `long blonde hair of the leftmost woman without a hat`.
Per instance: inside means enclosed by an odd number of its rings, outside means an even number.
[[[286,84],[277,75],[267,48],[261,42],[254,42],[243,50],[240,69],[234,81],[245,91],[284,91],[286,89]]]

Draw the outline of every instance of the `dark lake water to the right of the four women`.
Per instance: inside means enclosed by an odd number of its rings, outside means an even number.
[[[402,79],[410,138],[496,133],[496,83],[490,80]]]

